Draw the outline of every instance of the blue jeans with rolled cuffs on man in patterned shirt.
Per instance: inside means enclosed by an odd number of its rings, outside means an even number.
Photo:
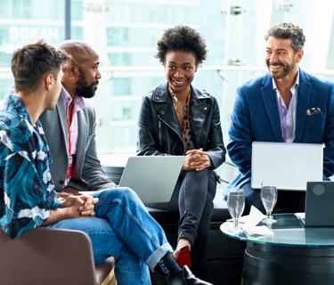
[[[173,251],[165,232],[131,189],[112,188],[91,195],[99,198],[95,217],[66,219],[48,227],[86,232],[96,264],[115,257],[119,285],[151,284],[149,268],[154,271],[159,260]]]

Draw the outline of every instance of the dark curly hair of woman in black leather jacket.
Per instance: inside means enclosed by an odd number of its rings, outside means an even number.
[[[168,28],[157,45],[158,53],[155,57],[162,64],[165,62],[166,54],[172,51],[194,53],[196,63],[199,65],[207,59],[208,50],[204,38],[195,29],[188,26],[178,25]]]

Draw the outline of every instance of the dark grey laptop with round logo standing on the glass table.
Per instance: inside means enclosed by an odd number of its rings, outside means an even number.
[[[334,181],[308,182],[305,226],[334,226]]]

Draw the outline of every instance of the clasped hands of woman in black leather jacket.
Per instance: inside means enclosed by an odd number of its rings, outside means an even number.
[[[200,150],[191,150],[185,153],[185,159],[183,161],[183,170],[196,169],[201,171],[211,166],[211,159],[208,157],[208,152]]]

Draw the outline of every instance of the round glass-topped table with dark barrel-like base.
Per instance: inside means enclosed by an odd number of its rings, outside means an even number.
[[[247,247],[243,285],[334,284],[334,228],[304,227],[294,214],[274,215],[273,236],[229,232],[231,222],[220,230]],[[242,227],[242,224],[241,224]]]

